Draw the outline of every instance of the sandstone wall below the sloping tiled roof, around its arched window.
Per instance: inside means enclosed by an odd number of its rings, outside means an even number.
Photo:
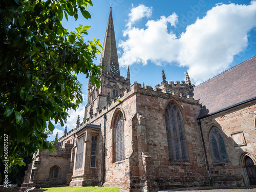
[[[256,103],[249,102],[236,108],[202,119],[209,169],[214,185],[248,186],[245,157],[256,164]],[[213,163],[209,147],[212,126],[221,130],[228,155],[228,162]]]

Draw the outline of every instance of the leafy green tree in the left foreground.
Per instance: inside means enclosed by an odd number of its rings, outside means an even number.
[[[101,52],[99,39],[85,42],[89,26],[68,32],[63,16],[90,18],[91,0],[1,0],[0,5],[0,156],[24,165],[25,156],[54,150],[46,141],[51,122],[66,122],[69,109],[82,102],[75,74],[92,73],[100,86],[101,66],[93,59]],[[7,141],[4,143],[4,141]]]

